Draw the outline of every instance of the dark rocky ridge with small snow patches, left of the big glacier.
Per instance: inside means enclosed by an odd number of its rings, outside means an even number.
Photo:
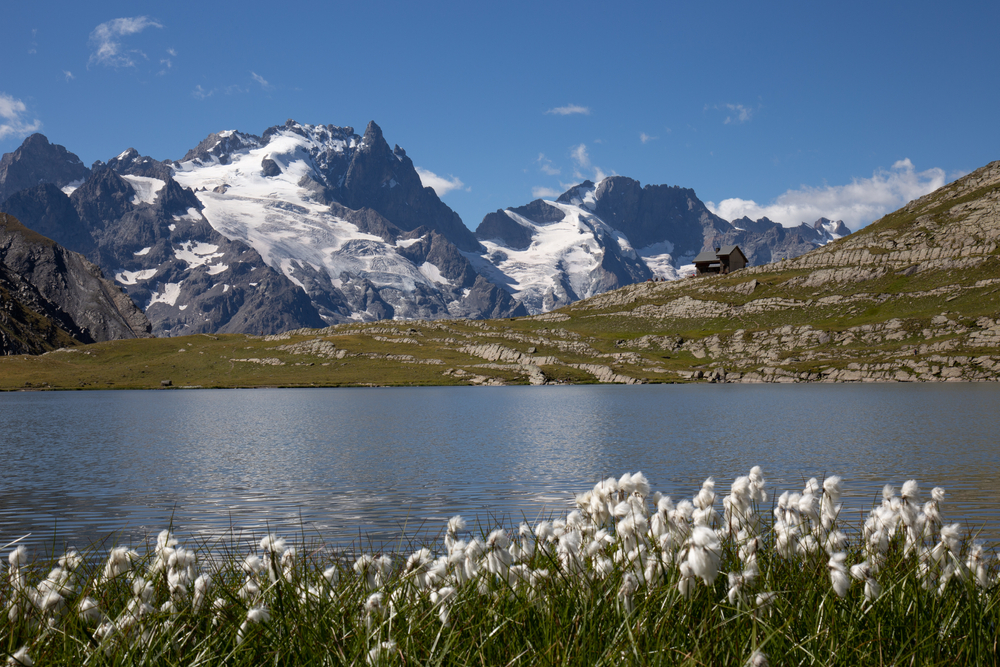
[[[145,309],[156,335],[271,334],[325,326],[302,289],[251,247],[208,224],[193,192],[170,172],[133,173],[142,164],[148,166],[123,154],[97,165],[71,197],[52,185],[37,186],[0,204],[0,210],[16,211],[102,266]],[[120,175],[115,167],[128,173]],[[165,177],[152,203],[136,201],[125,180],[159,178],[146,174]]]

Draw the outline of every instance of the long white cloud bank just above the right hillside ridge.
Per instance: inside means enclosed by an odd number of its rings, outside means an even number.
[[[767,217],[786,227],[796,227],[802,222],[829,218],[843,220],[852,230],[857,230],[944,184],[943,169],[917,171],[907,158],[893,164],[891,169],[878,169],[871,178],[855,178],[847,185],[802,186],[789,190],[766,206],[739,198],[724,199],[718,205],[706,202],[705,205],[729,221],[743,216],[754,220]]]

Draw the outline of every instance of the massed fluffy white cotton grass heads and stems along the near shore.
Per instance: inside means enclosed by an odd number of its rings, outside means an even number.
[[[995,603],[995,556],[981,543],[965,544],[960,524],[944,523],[943,490],[936,487],[923,503],[920,487],[912,480],[903,485],[899,496],[887,486],[882,502],[856,532],[854,527],[838,525],[843,496],[839,477],[811,478],[801,492],[776,491],[775,495],[772,519],[768,512],[758,512],[767,493],[760,469],[754,468],[729,486],[720,520],[712,478],[691,500],[675,504],[662,493],[651,493],[641,473],[627,473],[578,494],[575,508],[564,516],[539,521],[534,528],[523,522],[516,527],[495,527],[488,535],[476,537],[464,534],[466,523],[456,516],[448,521],[437,544],[425,543],[405,553],[355,554],[353,560],[335,556],[325,563],[314,558],[321,552],[312,545],[293,546],[267,535],[255,545],[259,555],[233,557],[211,574],[201,572],[200,563],[214,568],[219,561],[211,557],[202,561],[169,531],[160,533],[155,546],[149,545],[148,568],[140,565],[146,555],[139,558],[135,552],[118,548],[92,574],[87,574],[88,567],[81,567],[79,554],[70,551],[41,578],[45,570],[32,568],[27,551],[19,547],[5,554],[9,567],[6,578],[0,580],[4,584],[0,596],[17,632],[29,634],[17,635],[7,650],[24,644],[48,659],[51,638],[65,635],[72,640],[60,640],[67,647],[66,655],[78,651],[63,660],[67,664],[93,662],[96,658],[90,656],[101,657],[100,651],[112,661],[115,656],[148,661],[161,647],[175,651],[170,655],[178,662],[206,663],[224,661],[224,656],[213,654],[213,644],[232,650],[235,635],[241,646],[239,655],[248,661],[262,662],[262,652],[268,652],[267,660],[280,662],[289,657],[285,648],[261,641],[271,633],[260,627],[270,622],[270,609],[280,608],[282,630],[287,614],[287,627],[297,628],[302,641],[322,643],[340,628],[357,636],[361,629],[353,644],[341,641],[345,654],[338,659],[399,663],[404,657],[410,662],[412,657],[413,662],[425,662],[428,656],[419,654],[421,646],[447,645],[449,650],[464,646],[463,654],[470,654],[462,642],[485,640],[478,638],[479,633],[466,636],[464,630],[459,635],[445,630],[459,613],[463,627],[467,616],[473,624],[470,627],[495,628],[490,637],[496,636],[496,651],[509,642],[512,650],[516,647],[520,652],[526,650],[523,643],[518,644],[520,621],[512,622],[509,616],[517,605],[527,605],[533,614],[537,610],[537,618],[544,622],[562,614],[565,605],[589,605],[600,599],[612,603],[593,608],[594,629],[601,635],[602,623],[620,624],[619,614],[631,618],[630,627],[636,628],[659,622],[661,616],[664,627],[711,618],[722,623],[720,628],[730,628],[795,610],[803,623],[793,626],[820,628],[836,638],[842,630],[837,627],[840,619],[848,625],[845,632],[853,632],[850,624],[858,622],[858,612],[873,609],[874,601],[888,598],[888,592],[892,599],[880,605],[879,613],[884,611],[891,617],[887,622],[893,624],[903,618],[896,608],[901,595],[919,598],[903,600],[903,607],[946,604],[959,612],[947,624],[935,626],[941,646],[954,646],[958,638],[981,630],[970,629],[968,619],[979,622],[980,608]],[[821,558],[829,583],[815,576],[816,567],[822,571]],[[849,560],[861,562],[849,567]],[[720,569],[725,574],[724,589],[715,583]],[[862,582],[863,596],[860,591],[851,595],[854,580]],[[953,585],[953,580],[967,585]],[[706,591],[699,590],[699,581]],[[666,590],[674,586],[677,593]],[[213,595],[213,591],[218,592]],[[942,602],[928,604],[928,598],[937,595],[943,597]],[[677,603],[677,597],[696,600]],[[812,604],[817,598],[819,604]],[[734,609],[740,611],[731,613]],[[313,627],[312,618],[331,622]],[[831,622],[834,618],[837,623]],[[395,636],[400,627],[407,633],[405,656],[391,641],[382,641]],[[223,641],[213,642],[201,634],[205,632]],[[616,636],[608,632],[609,638]],[[670,639],[671,645],[676,642],[678,650],[691,650],[682,646],[684,632],[678,632]],[[728,641],[728,632],[719,630],[722,641]],[[809,641],[809,636],[800,636],[792,626],[783,632],[791,642]],[[434,633],[442,633],[440,638],[447,643],[437,642]],[[561,641],[557,633],[553,636],[554,641]],[[290,637],[297,641],[294,635]],[[741,637],[734,646],[747,651],[756,646],[745,646],[742,642],[747,635]],[[205,647],[205,653],[188,655],[185,646]],[[615,646],[615,655],[620,649]],[[805,660],[798,649],[789,650],[789,661]],[[866,647],[845,650],[852,656],[871,655]],[[515,656],[496,651],[498,660]],[[953,655],[952,648],[942,649],[941,656]],[[743,664],[744,660],[767,664],[767,657],[759,651],[750,659],[726,654],[719,661]],[[858,662],[865,660],[858,658]]]

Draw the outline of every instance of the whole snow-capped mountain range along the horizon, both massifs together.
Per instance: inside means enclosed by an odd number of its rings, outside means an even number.
[[[473,234],[369,123],[208,135],[179,161],[83,166],[42,135],[0,158],[0,210],[97,263],[157,335],[540,313],[739,244],[751,264],[848,233],[731,224],[693,190],[622,176],[487,215]]]

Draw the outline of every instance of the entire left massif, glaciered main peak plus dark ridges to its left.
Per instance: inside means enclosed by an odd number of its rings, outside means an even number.
[[[4,159],[17,174],[55,149],[33,135]],[[209,135],[179,162],[128,149],[84,169],[33,167],[41,184],[0,208],[98,263],[157,335],[525,313],[475,272],[459,249],[481,250],[472,232],[375,123],[289,121]]]

